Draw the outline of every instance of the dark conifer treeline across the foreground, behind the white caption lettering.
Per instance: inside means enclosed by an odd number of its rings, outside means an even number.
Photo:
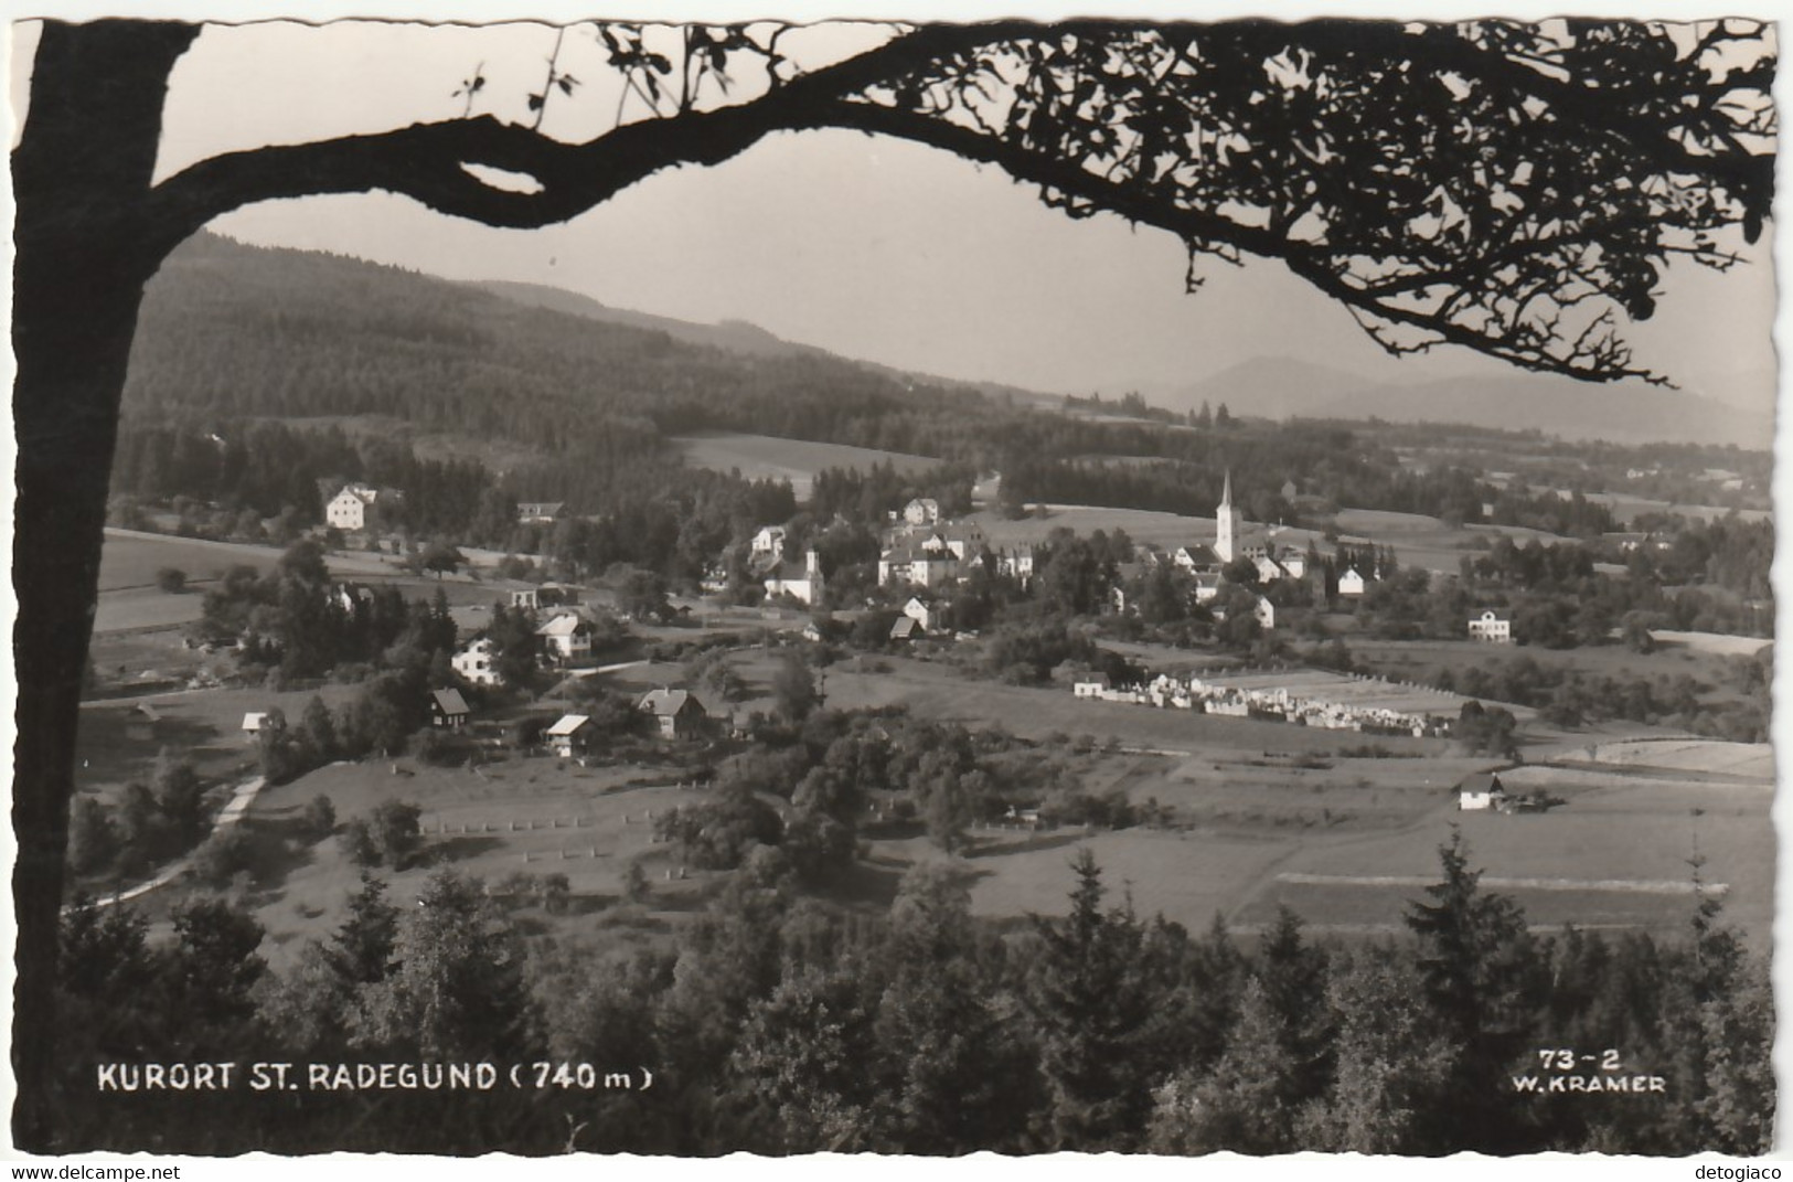
[[[1219,920],[1191,934],[1139,917],[1088,852],[1063,918],[1004,931],[972,915],[957,863],[918,865],[873,917],[803,893],[780,848],[748,841],[674,934],[602,949],[529,934],[550,902],[586,902],[545,879],[439,870],[400,908],[369,877],[282,972],[256,920],[219,899],[178,906],[165,945],[127,908],[75,906],[54,1148],[1768,1150],[1768,970],[1711,897],[1678,940],[1535,934],[1458,839],[1440,859],[1404,938],[1316,942],[1284,909],[1250,951]],[[608,906],[626,922],[637,904]],[[403,1064],[412,1087],[95,1092],[97,1062],[269,1046],[294,1064]],[[425,1091],[412,1067],[481,1062],[522,1064],[524,1087]],[[599,1085],[629,1071],[640,1087],[644,1067],[651,1091]],[[1646,1091],[1558,1094],[1560,1076]]]

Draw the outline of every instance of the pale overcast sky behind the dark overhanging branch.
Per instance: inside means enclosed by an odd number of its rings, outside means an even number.
[[[839,56],[877,30],[818,32]],[[475,111],[524,118],[554,32],[541,25],[351,22],[210,27],[176,68],[161,170],[233,147],[452,118],[484,66]],[[29,52],[29,30],[20,54]],[[588,34],[563,68],[545,131],[585,138],[617,91]],[[231,237],[330,249],[450,278],[552,283],[615,307],[696,321],[748,319],[782,337],[895,366],[1044,391],[1122,393],[1192,382],[1257,355],[1293,355],[1379,380],[1503,373],[1465,350],[1390,361],[1329,300],[1275,264],[1207,267],[1162,231],[1072,222],[995,169],[850,133],[780,135],[715,169],[660,174],[549,230],[500,231],[389,196],[269,203],[215,222]],[[1673,273],[1639,361],[1687,389],[1773,402],[1766,264]]]

